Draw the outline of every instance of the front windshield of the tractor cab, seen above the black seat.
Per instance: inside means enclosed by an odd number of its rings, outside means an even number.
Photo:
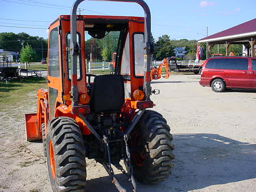
[[[116,64],[120,31],[85,30],[87,74],[110,74]]]

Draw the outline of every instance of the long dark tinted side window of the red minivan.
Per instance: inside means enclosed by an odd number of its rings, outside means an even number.
[[[248,70],[248,59],[244,59],[244,58],[211,59],[207,62],[206,68]]]

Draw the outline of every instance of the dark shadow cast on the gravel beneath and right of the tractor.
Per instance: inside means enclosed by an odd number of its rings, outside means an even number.
[[[256,178],[255,144],[239,142],[218,134],[173,136],[176,160],[172,175],[166,181],[153,186],[137,182],[138,191],[186,192]],[[128,191],[131,191],[126,176],[119,174],[117,178]],[[109,177],[88,180],[86,189],[100,192],[118,191]]]

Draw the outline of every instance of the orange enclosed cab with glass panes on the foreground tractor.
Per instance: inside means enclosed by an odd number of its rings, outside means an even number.
[[[73,79],[76,76],[77,104],[90,102],[95,75],[87,72],[86,61],[107,58],[108,54],[111,56],[112,52],[116,52],[114,75],[120,75],[124,80],[124,98],[136,101],[133,93],[136,90],[144,91],[144,50],[142,49],[144,46],[144,18],[80,15],[77,16],[76,28],[77,74],[73,76]],[[70,41],[70,16],[62,15],[49,28],[47,80],[50,118],[55,117],[54,112],[57,106],[62,103],[68,106],[71,104]],[[100,52],[100,50],[102,51]],[[115,82],[112,83],[111,86],[115,86]]]

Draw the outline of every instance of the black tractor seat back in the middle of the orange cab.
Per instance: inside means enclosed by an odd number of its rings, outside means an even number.
[[[122,75],[99,75],[94,78],[90,93],[90,107],[94,113],[118,113],[124,103]]]

